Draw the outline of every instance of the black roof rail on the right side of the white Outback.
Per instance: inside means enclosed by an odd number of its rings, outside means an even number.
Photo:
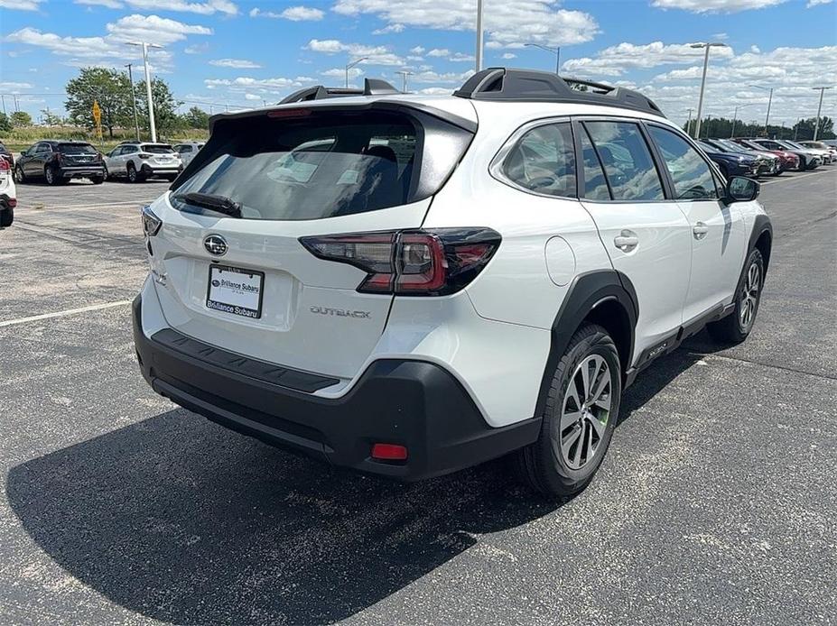
[[[577,102],[619,106],[665,117],[653,100],[638,91],[581,78],[562,78],[551,72],[534,69],[483,69],[466,80],[453,95],[472,100]]]

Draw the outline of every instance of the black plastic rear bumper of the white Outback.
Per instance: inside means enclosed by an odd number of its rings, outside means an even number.
[[[140,369],[154,391],[222,426],[332,465],[414,481],[478,465],[538,437],[539,419],[488,426],[468,392],[437,364],[376,361],[345,396],[322,398],[242,373],[232,364],[253,362],[239,355],[207,345],[210,362],[194,355],[200,351],[186,354],[155,340],[159,334],[145,336],[140,296],[133,314]],[[226,355],[230,367],[222,365]],[[374,443],[405,446],[408,457],[374,460]]]

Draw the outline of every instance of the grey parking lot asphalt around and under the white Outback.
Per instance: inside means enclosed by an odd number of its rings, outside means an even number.
[[[837,167],[764,185],[752,335],[642,373],[563,503],[503,460],[333,470],[153,394],[126,302],[163,189],[22,185],[0,232],[0,623],[837,620]]]

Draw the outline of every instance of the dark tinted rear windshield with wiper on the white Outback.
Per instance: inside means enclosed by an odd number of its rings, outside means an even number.
[[[200,192],[237,202],[246,219],[302,220],[426,198],[450,174],[471,135],[435,118],[427,127],[422,115],[346,110],[222,120],[192,161],[197,171],[187,170],[188,178],[175,183],[172,205],[200,212],[178,199]],[[424,164],[420,146],[432,150]]]

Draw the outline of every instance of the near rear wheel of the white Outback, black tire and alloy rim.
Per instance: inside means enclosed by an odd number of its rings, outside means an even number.
[[[586,384],[584,370],[588,380],[595,372]],[[550,496],[568,498],[581,492],[607,453],[621,393],[622,375],[613,339],[603,327],[583,325],[553,372],[540,436],[516,453],[523,482]],[[592,401],[596,398],[599,400]]]

